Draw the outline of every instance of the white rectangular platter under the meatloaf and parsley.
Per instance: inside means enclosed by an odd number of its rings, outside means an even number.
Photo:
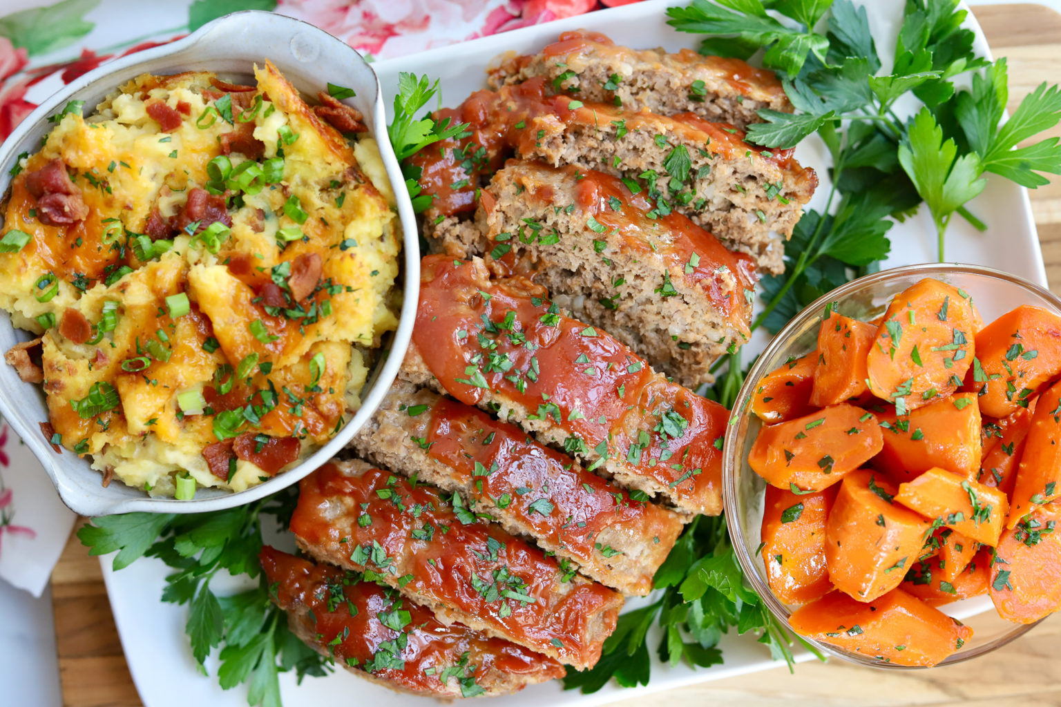
[[[376,64],[375,68],[388,103],[393,102],[399,72],[406,71],[441,79],[441,103],[454,106],[470,92],[485,88],[484,69],[493,57],[506,51],[536,52],[567,30],[585,28],[603,32],[618,43],[637,48],[664,47],[669,51],[683,47],[695,48],[699,41],[697,36],[676,32],[665,22],[665,8],[675,4],[679,3],[675,0],[649,0],[388,59]],[[867,6],[877,37],[877,51],[884,65],[890,66],[893,37],[898,31],[903,3],[889,0],[857,4]],[[977,35],[976,50],[988,54],[987,40],[979,26],[971,17],[968,24]],[[267,50],[265,54],[267,55]],[[321,83],[327,79],[327,76],[320,76]],[[824,146],[816,138],[808,139],[798,148],[797,158],[802,164],[814,166],[818,171],[821,185],[811,208],[820,209],[829,189],[825,169],[829,161]],[[970,208],[988,225],[988,230],[979,233],[963,220],[955,219],[947,233],[947,259],[988,265],[1045,286],[1046,272],[1027,193],[1012,182],[992,176],[987,189]],[[897,224],[889,232],[889,237],[892,248],[885,267],[936,260],[935,230],[927,214],[921,213],[905,223]],[[760,349],[764,341],[756,340],[749,346]],[[102,562],[122,647],[146,707],[246,705],[244,687],[228,692],[218,687],[215,662],[207,664],[211,672],[209,677],[197,672],[185,636],[185,607],[159,601],[164,578],[170,571],[161,562],[141,560],[120,572],[111,570],[109,556],[103,558]],[[213,587],[219,594],[225,594],[227,588],[231,591],[240,588],[234,583],[226,587],[216,582]],[[639,604],[629,603],[630,607],[637,605]],[[969,616],[989,605],[971,602],[951,613]],[[527,688],[516,695],[497,697],[491,704],[497,707],[589,707],[636,697],[650,691],[765,670],[778,665],[770,659],[767,648],[758,643],[751,635],[725,636],[719,646],[725,664],[709,669],[694,670],[686,665],[668,668],[657,658],[657,646],[658,638],[653,638],[649,634],[653,670],[651,681],[646,687],[622,689],[609,684],[599,692],[584,695],[576,691],[564,691],[560,683],[553,682]],[[801,661],[811,657],[805,651],[797,655],[797,659]],[[343,670],[325,678],[307,678],[301,685],[296,685],[292,673],[281,674],[280,688],[285,707],[317,707],[324,704],[413,707],[431,704],[424,697],[392,692]]]

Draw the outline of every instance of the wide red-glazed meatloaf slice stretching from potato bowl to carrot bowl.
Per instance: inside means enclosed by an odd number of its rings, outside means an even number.
[[[428,255],[401,376],[497,410],[620,484],[688,513],[721,512],[729,410],[483,261]]]

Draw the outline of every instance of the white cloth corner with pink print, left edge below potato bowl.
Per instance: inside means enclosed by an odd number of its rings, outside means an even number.
[[[75,518],[37,458],[0,422],[0,579],[39,597]]]

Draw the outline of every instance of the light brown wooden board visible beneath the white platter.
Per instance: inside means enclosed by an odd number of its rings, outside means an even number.
[[[975,10],[995,56],[1009,58],[1010,110],[1036,86],[1061,81],[1061,15],[1042,5]],[[1061,136],[1061,129],[1055,135]],[[1061,179],[1031,192],[1046,275],[1061,295]],[[81,524],[77,524],[80,527]],[[140,699],[95,558],[76,538],[52,573],[55,633],[67,707],[137,707]],[[1061,707],[1061,615],[989,657],[929,671],[885,672],[834,661],[804,664],[639,697],[638,707],[869,707],[1011,705]],[[215,679],[211,677],[210,679]],[[242,688],[241,688],[242,689]],[[2,702],[2,700],[0,700]],[[429,704],[428,702],[424,703]],[[485,704],[485,703],[484,703]],[[633,707],[633,701],[618,703]]]

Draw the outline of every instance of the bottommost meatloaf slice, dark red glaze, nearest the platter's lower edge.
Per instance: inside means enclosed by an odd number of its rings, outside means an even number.
[[[562,677],[563,667],[522,646],[460,623],[360,572],[280,552],[261,551],[273,601],[292,632],[350,672],[400,692],[434,697],[508,694]]]

